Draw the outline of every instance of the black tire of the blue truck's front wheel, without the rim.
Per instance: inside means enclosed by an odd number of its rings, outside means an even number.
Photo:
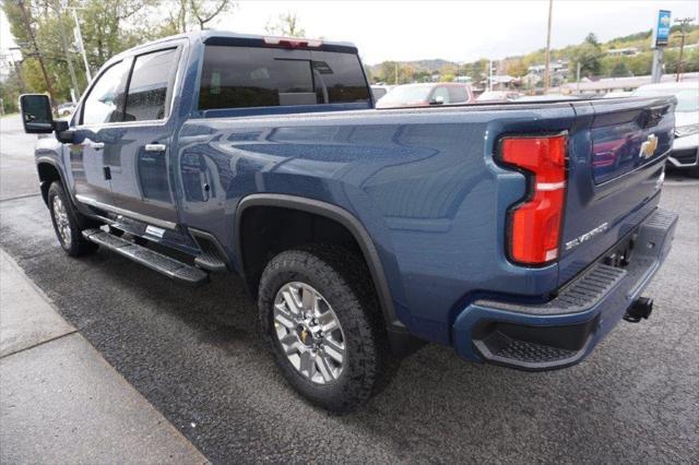
[[[68,240],[63,238],[61,231],[59,230],[59,219],[57,216],[59,215],[57,210],[57,199],[60,200],[60,203],[63,206],[64,215],[68,219],[68,227],[66,229]],[[51,223],[54,224],[54,231],[56,233],[56,237],[58,238],[58,242],[61,245],[61,248],[68,253],[70,257],[80,257],[97,250],[97,245],[88,241],[82,235],[83,229],[87,226],[93,226],[93,222],[88,218],[84,218],[79,212],[75,211],[72,202],[66,195],[66,191],[60,182],[56,181],[51,183],[48,189],[48,210],[51,215]],[[81,227],[85,225],[85,227]]]

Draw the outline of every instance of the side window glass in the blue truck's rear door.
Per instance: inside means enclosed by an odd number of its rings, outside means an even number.
[[[135,58],[125,109],[125,121],[165,119],[168,84],[175,71],[176,49],[154,51]]]

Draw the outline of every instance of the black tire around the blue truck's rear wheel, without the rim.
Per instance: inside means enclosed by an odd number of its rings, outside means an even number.
[[[339,377],[331,383],[318,384],[301,374],[275,334],[274,300],[279,290],[291,282],[318,290],[342,326],[346,358]],[[355,254],[333,246],[280,253],[262,273],[258,303],[263,335],[282,374],[310,403],[345,413],[364,404],[376,391],[380,378],[386,375],[388,338],[369,271]]]

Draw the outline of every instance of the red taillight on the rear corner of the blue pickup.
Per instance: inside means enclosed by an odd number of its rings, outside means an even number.
[[[509,213],[510,259],[528,265],[558,259],[566,200],[566,136],[502,139],[500,159],[531,177],[526,199]]]

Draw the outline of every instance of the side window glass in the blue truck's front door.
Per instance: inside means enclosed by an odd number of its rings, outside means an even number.
[[[127,71],[127,62],[120,61],[99,76],[83,105],[83,124],[121,121]]]

